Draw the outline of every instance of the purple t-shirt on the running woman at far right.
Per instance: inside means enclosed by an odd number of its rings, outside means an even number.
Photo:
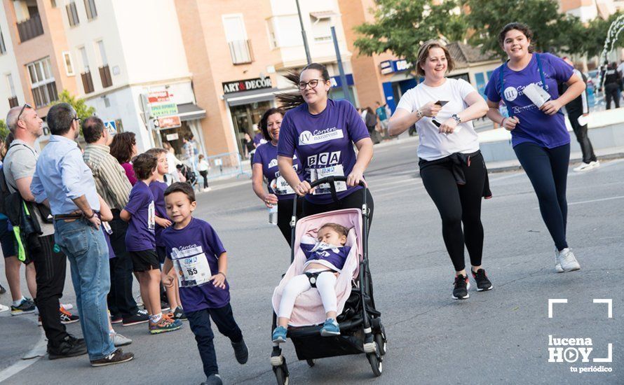
[[[550,53],[538,54],[542,64],[546,88],[552,100],[559,97],[558,83],[567,82],[572,76],[572,67],[559,57]],[[537,65],[537,55],[531,57],[529,65],[522,71],[513,71],[503,64],[503,93],[511,116],[516,116],[520,123],[511,131],[513,146],[531,142],[547,148],[555,148],[570,143],[570,134],[566,128],[562,113],[546,115],[524,95],[522,90],[531,83],[542,87],[542,80]],[[501,101],[501,67],[492,72],[485,87],[487,99]]]

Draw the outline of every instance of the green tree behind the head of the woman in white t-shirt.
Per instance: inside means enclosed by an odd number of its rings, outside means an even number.
[[[434,4],[432,0],[378,0],[375,21],[355,27],[360,34],[354,45],[365,55],[393,52],[417,62],[418,48],[431,38],[456,41],[464,38],[468,25],[457,11],[458,1]]]

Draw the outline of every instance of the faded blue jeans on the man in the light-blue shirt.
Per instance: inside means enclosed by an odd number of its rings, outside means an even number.
[[[55,221],[54,230],[55,242],[72,267],[72,283],[89,359],[99,360],[115,351],[109,336],[106,297],[111,278],[104,233],[84,218]]]

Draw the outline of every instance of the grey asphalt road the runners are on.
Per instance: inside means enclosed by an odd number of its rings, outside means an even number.
[[[483,265],[494,290],[472,290],[468,300],[459,302],[451,299],[452,264],[438,212],[417,175],[415,154],[415,142],[378,148],[367,172],[375,200],[370,263],[388,335],[384,374],[374,378],[363,355],[326,358],[308,367],[297,361],[288,342],[291,383],[624,383],[624,160],[569,174],[568,241],[582,269],[566,274],[553,272],[552,241],[524,172],[490,174],[494,198],[482,209]],[[199,195],[196,214],[212,223],[228,249],[231,304],[250,349],[249,362],[238,365],[229,340],[217,335],[224,382],[274,384],[270,301],[288,265],[287,245],[267,223],[250,182]],[[6,286],[4,276],[0,282]],[[74,302],[69,274],[66,288],[63,302]],[[554,305],[552,318],[549,298],[568,300]],[[606,304],[592,302],[595,298],[612,299],[613,318],[608,318]],[[0,301],[9,302],[8,293]],[[0,377],[39,338],[40,328],[27,317],[0,314]],[[78,324],[69,329],[80,334]],[[117,330],[134,339],[124,349],[136,355],[130,363],[91,368],[86,356],[41,358],[5,383],[199,384],[205,378],[186,323],[181,331],[157,336],[148,334],[147,325]],[[549,335],[590,338],[584,342],[592,346],[581,346],[593,349],[589,362],[549,363]],[[606,358],[609,343],[612,362],[592,362]],[[574,351],[565,357],[572,360]],[[572,372],[601,365],[612,372]]]

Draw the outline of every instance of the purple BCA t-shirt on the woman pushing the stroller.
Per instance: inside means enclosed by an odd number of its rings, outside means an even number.
[[[318,115],[312,115],[308,112],[308,105],[301,104],[288,111],[282,120],[278,155],[292,158],[297,151],[308,182],[311,181],[310,169],[334,165],[342,165],[344,176],[348,176],[357,160],[353,144],[369,137],[360,114],[346,100],[327,99],[327,107]],[[348,187],[337,194],[338,199],[360,188]],[[306,200],[325,204],[332,202],[332,195],[308,194]]]

